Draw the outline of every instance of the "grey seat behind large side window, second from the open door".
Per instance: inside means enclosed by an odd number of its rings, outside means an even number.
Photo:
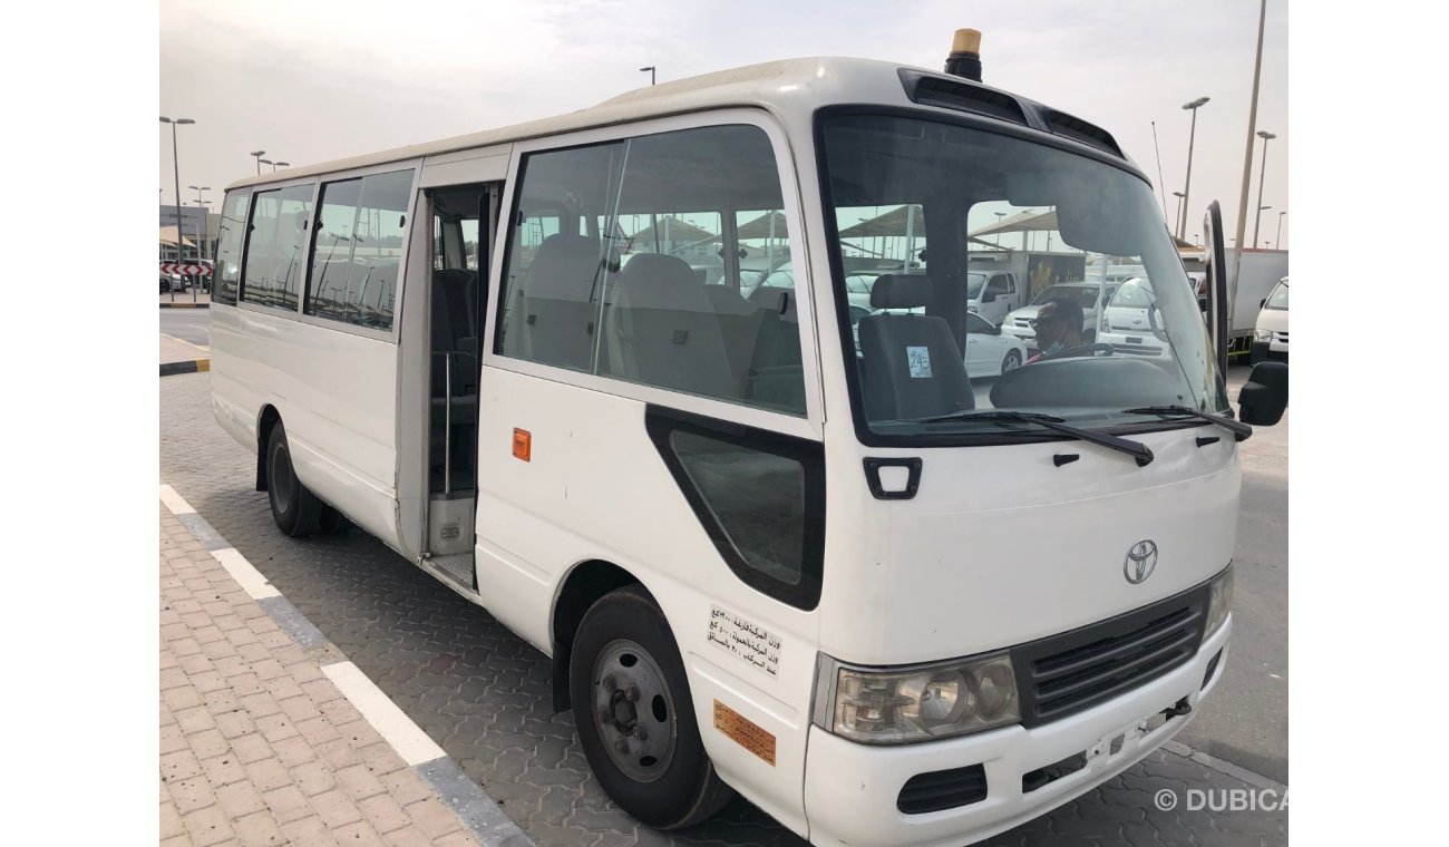
[[[678,256],[639,253],[619,272],[611,371],[646,385],[739,398],[704,285]]]

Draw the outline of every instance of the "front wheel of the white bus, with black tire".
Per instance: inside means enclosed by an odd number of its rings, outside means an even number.
[[[704,751],[669,625],[642,588],[606,594],[584,614],[568,685],[588,766],[622,809],[682,830],[735,796]]]

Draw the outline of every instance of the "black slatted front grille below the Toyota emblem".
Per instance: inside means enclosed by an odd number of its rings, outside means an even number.
[[[1162,676],[1203,641],[1208,588],[1011,649],[1022,724],[1072,715]]]

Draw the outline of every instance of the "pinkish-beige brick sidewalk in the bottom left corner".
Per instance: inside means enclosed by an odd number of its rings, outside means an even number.
[[[161,844],[478,844],[161,508]]]

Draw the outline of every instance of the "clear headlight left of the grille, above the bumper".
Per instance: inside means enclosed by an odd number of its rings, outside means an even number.
[[[1006,653],[907,670],[820,659],[816,724],[853,741],[906,744],[1022,720],[1016,672]]]

